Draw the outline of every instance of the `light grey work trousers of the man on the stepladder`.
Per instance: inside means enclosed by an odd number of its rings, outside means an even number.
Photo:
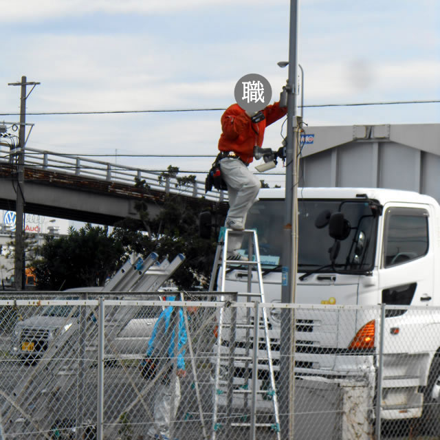
[[[225,157],[220,161],[221,175],[228,185],[229,210],[227,219],[246,223],[246,217],[261,188],[261,182],[240,159]],[[239,234],[230,236],[229,250],[241,247]]]

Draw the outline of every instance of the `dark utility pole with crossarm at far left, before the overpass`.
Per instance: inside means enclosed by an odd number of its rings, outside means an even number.
[[[15,200],[15,259],[14,259],[14,284],[16,290],[24,290],[25,283],[25,234],[23,230],[24,215],[24,168],[25,168],[25,144],[26,144],[26,100],[40,83],[28,83],[25,76],[21,77],[20,83],[8,83],[8,85],[21,86],[20,95],[20,128],[19,128],[19,148],[17,154],[17,197]],[[32,85],[29,94],[26,95],[26,86]]]

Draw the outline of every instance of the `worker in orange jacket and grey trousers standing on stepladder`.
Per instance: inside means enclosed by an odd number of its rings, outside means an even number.
[[[263,145],[266,126],[283,118],[286,113],[287,109],[275,102],[255,113],[243,110],[239,104],[232,104],[221,116],[220,168],[228,186],[230,206],[225,221],[227,228],[244,229],[248,210],[261,188],[261,182],[248,166],[254,160],[255,147],[258,149]],[[240,238],[230,241],[228,259],[245,260],[236,251],[240,246]]]

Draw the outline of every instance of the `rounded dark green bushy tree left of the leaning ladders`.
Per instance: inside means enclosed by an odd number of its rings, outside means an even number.
[[[47,236],[31,261],[38,289],[65,290],[102,286],[125,254],[108,228],[85,225],[67,236]]]

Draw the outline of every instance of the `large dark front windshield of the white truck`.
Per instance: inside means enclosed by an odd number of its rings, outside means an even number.
[[[316,200],[299,199],[298,272],[324,267],[333,272],[329,249],[334,240],[329,228],[316,228],[315,221],[323,211],[342,212],[351,227],[350,234],[340,242],[340,251],[334,262],[338,272],[367,272],[373,268],[377,214],[365,199]],[[284,201],[259,200],[249,211],[246,228],[255,228],[259,236],[261,263],[266,269],[281,271],[283,251]],[[246,251],[245,251],[246,250]],[[247,252],[243,243],[242,252]]]

